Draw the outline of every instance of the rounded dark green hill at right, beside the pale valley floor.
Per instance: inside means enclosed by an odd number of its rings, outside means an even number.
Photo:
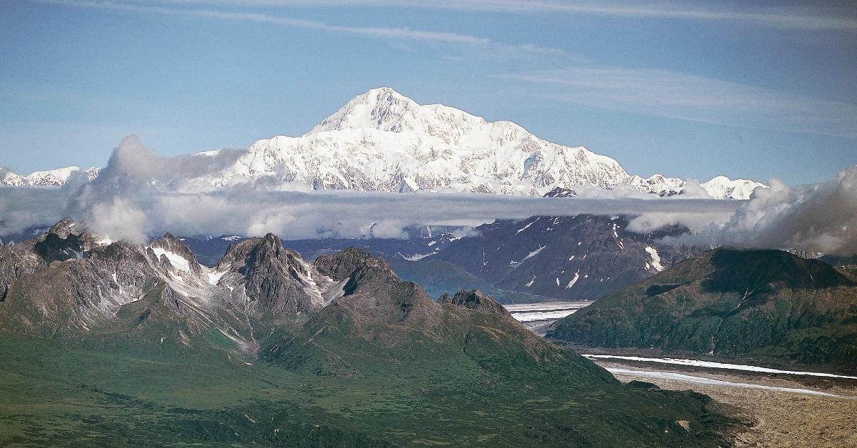
[[[602,297],[558,320],[548,336],[853,372],[857,284],[822,261],[719,248]]]

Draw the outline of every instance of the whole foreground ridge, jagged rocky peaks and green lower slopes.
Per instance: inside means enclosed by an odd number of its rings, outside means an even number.
[[[0,287],[0,445],[716,446],[735,424],[357,248],[309,263],[267,235],[207,267],[63,220],[0,247]]]

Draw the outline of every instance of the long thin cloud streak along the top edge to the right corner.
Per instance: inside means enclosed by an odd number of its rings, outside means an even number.
[[[145,0],[144,0],[145,1]],[[149,3],[212,3],[210,0],[147,0]],[[513,14],[548,12],[575,15],[602,15],[636,19],[714,21],[752,27],[789,30],[857,31],[857,17],[848,10],[806,7],[799,4],[756,7],[752,4],[716,2],[579,2],[557,0],[214,0],[241,6],[349,7],[395,6],[423,9],[470,9]]]

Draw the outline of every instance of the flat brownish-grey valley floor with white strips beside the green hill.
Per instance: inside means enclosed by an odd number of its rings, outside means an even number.
[[[567,307],[546,303],[529,304],[528,308],[548,311]],[[540,336],[554,323],[553,319],[519,320]],[[749,429],[735,435],[735,446],[857,446],[857,380],[854,379],[618,358],[590,359],[623,382],[636,379],[662,389],[690,389],[714,398],[741,420],[752,422]]]

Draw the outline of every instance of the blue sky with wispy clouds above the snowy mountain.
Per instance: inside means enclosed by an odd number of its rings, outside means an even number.
[[[390,86],[648,176],[857,164],[857,10],[829,3],[0,3],[0,165],[101,166],[303,134]]]

